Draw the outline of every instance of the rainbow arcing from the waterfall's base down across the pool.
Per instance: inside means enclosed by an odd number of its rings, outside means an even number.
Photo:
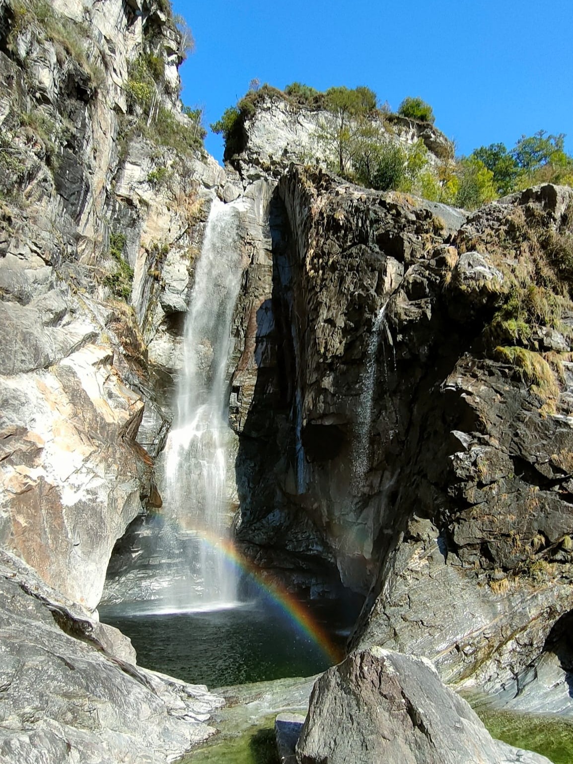
[[[280,610],[286,615],[288,620],[302,633],[309,636],[312,641],[319,646],[325,656],[332,663],[339,663],[344,658],[342,650],[332,643],[329,635],[320,626],[319,623],[306,610],[290,591],[277,581],[270,581],[261,574],[260,568],[257,568],[248,558],[241,555],[235,545],[228,539],[221,539],[206,530],[193,529],[202,542],[208,544],[212,549],[222,553],[225,559],[231,563],[238,571],[251,577],[257,588],[263,594],[270,597]]]

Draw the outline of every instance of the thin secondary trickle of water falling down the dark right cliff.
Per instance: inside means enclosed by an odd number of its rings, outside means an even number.
[[[372,404],[374,403],[374,387],[376,384],[376,355],[380,342],[380,332],[386,329],[390,338],[390,330],[385,318],[387,302],[377,312],[372,324],[372,332],[366,348],[366,364],[362,377],[362,391],[356,407],[356,429],[354,432],[354,448],[352,454],[352,482],[354,490],[361,490],[370,466],[370,434],[372,424]],[[393,345],[392,345],[393,348]],[[396,364],[394,356],[394,365]],[[388,381],[386,350],[384,349],[384,381]]]

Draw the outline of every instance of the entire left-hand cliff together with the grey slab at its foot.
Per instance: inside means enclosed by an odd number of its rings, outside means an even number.
[[[166,8],[0,3],[2,761],[160,762],[212,731],[214,698],[136,669],[93,614],[161,503],[166,358],[224,176]]]

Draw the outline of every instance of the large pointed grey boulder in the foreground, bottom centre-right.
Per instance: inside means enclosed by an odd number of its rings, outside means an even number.
[[[354,652],[316,682],[299,764],[549,764],[494,740],[431,662],[380,647]]]

